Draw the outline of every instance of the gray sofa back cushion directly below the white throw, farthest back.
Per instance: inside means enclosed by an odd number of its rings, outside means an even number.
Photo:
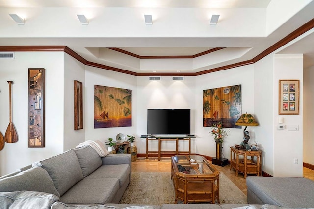
[[[86,145],[80,148],[76,148],[74,149],[74,151],[78,157],[78,162],[82,169],[84,177],[91,174],[103,163],[102,158],[99,157],[98,153],[91,146]]]

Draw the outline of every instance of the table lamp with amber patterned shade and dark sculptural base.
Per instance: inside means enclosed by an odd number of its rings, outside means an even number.
[[[243,130],[243,142],[240,143],[240,146],[245,150],[249,150],[251,147],[248,145],[248,141],[250,140],[249,132],[246,131],[248,126],[258,126],[259,124],[255,121],[255,118],[252,114],[243,113],[240,118],[235,122],[235,125],[245,126]]]

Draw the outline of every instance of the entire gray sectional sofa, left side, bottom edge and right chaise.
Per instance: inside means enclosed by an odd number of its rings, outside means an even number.
[[[100,157],[84,145],[0,177],[0,209],[288,209],[314,207],[314,182],[247,177],[248,204],[119,204],[131,181],[131,155]],[[249,205],[250,204],[250,205]],[[271,204],[271,205],[268,205]],[[279,207],[281,206],[281,207]]]

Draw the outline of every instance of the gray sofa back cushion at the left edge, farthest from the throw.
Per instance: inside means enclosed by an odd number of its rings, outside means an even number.
[[[60,197],[49,174],[40,167],[33,167],[0,180],[0,191],[22,190],[47,192]]]

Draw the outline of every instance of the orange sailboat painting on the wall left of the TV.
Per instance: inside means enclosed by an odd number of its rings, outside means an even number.
[[[132,90],[94,85],[94,128],[132,126]]]

